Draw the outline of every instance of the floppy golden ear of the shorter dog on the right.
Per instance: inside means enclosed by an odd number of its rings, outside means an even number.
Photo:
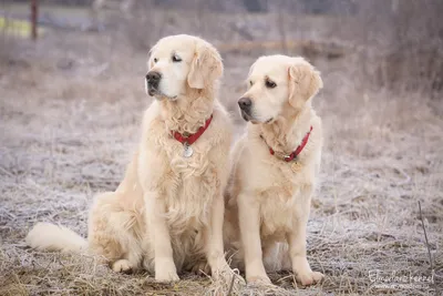
[[[305,60],[289,67],[289,103],[298,109],[323,88],[320,72]]]

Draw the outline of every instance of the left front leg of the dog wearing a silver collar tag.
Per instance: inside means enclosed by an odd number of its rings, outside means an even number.
[[[166,205],[156,193],[145,194],[146,218],[154,245],[155,280],[178,280],[177,268],[174,263],[169,229],[166,224]]]

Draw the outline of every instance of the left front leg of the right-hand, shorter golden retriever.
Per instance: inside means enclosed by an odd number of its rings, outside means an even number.
[[[259,205],[249,196],[240,194],[238,196],[238,221],[248,283],[270,283],[262,263],[259,215]]]

